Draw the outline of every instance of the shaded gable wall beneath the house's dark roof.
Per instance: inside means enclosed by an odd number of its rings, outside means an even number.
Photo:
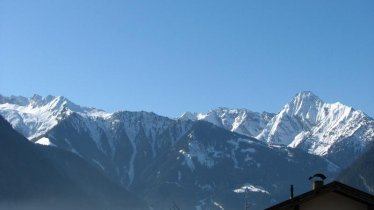
[[[329,192],[300,205],[300,210],[367,210],[363,203]]]

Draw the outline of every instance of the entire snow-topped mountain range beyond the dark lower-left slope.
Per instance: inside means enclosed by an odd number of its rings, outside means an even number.
[[[288,197],[289,184],[330,179],[374,142],[374,120],[301,92],[278,114],[219,108],[178,119],[105,112],[64,97],[0,95],[0,115],[37,144],[84,159],[153,209],[253,209]],[[372,179],[372,178],[371,178]]]

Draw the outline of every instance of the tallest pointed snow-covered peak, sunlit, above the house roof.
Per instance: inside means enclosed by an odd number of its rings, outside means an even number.
[[[325,103],[312,92],[301,92],[256,138],[320,156],[334,152],[334,145],[350,139],[356,153],[360,153],[374,140],[374,120],[339,102]]]

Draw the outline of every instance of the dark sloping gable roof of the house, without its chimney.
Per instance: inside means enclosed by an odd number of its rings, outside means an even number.
[[[361,190],[358,190],[356,188],[350,187],[348,185],[345,185],[341,182],[331,182],[329,184],[326,184],[324,186],[321,186],[315,190],[303,193],[299,196],[296,196],[292,199],[286,200],[284,202],[281,202],[279,204],[276,204],[272,207],[269,207],[265,210],[275,210],[275,209],[287,209],[292,206],[297,206],[299,204],[302,204],[304,202],[307,202],[317,196],[320,196],[322,194],[325,194],[327,192],[334,192],[338,193],[340,195],[349,197],[353,200],[356,200],[361,203],[365,203],[368,206],[374,207],[374,196],[371,194],[368,194],[366,192],[363,192]]]

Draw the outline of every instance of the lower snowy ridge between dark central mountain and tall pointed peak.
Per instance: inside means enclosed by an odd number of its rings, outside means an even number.
[[[181,120],[203,120],[247,136],[257,136],[274,114],[247,109],[218,108],[207,113],[184,113]]]

